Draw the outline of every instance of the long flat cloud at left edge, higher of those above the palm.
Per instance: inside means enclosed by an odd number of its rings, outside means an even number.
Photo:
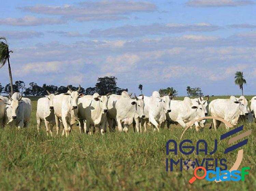
[[[34,16],[25,16],[23,18],[1,18],[0,25],[12,26],[35,26],[42,24],[61,24],[65,21],[59,18],[38,18]]]

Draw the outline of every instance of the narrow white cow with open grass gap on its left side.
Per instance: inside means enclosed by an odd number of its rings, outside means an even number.
[[[47,91],[47,93],[48,95],[45,95],[45,98],[40,98],[37,101],[37,130],[39,132],[40,123],[44,121],[47,136],[49,133],[53,136],[53,126],[55,125],[53,99],[58,92],[53,94]]]

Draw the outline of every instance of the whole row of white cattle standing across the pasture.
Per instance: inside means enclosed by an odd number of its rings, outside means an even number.
[[[256,96],[251,100],[251,110],[248,107],[248,100],[244,96],[229,99],[215,99],[209,103],[209,96],[204,100],[202,97],[184,100],[172,100],[169,95],[162,95],[154,91],[152,96],[147,97],[128,94],[123,91],[121,95],[107,94],[84,95],[80,93],[80,86],[77,91],[68,87],[67,93],[53,94],[47,91],[48,95],[40,98],[37,103],[37,128],[44,121],[47,135],[53,136],[53,126],[56,125],[57,135],[60,125],[63,125],[62,135],[68,136],[72,125],[79,122],[80,133],[94,133],[95,127],[99,128],[101,134],[113,131],[117,126],[118,131],[127,132],[129,126],[134,131],[142,132],[142,126],[146,131],[146,124],[153,126],[154,131],[167,127],[170,124],[180,124],[187,127],[195,120],[208,115],[223,118],[232,125],[238,123],[240,116],[247,122],[253,122],[256,111]],[[23,98],[22,94],[15,92],[9,95],[9,99],[0,96],[0,127],[5,123],[17,126],[18,129],[26,127],[32,112],[31,100]],[[204,127],[205,120],[194,123],[196,130]],[[214,129],[220,125],[220,121],[213,120]],[[228,126],[226,126],[228,129]]]

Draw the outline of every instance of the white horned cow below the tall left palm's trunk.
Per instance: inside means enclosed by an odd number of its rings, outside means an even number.
[[[15,125],[18,129],[28,125],[32,111],[30,99],[23,98],[22,94],[20,95],[18,92],[15,92],[12,97],[9,95],[6,107],[6,114],[9,120],[7,124]]]

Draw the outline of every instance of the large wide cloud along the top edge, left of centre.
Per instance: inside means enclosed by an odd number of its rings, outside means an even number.
[[[84,1],[76,5],[34,5],[19,8],[31,13],[73,17],[77,21],[119,20],[126,18],[122,15],[157,10],[156,5],[150,2],[120,0]]]

